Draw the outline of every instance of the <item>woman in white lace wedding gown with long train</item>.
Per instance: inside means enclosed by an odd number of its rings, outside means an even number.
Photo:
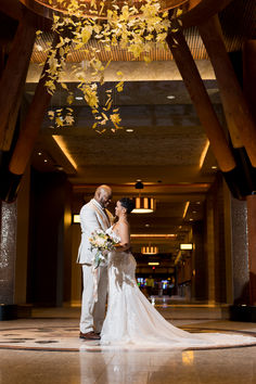
[[[191,334],[166,321],[140,292],[136,281],[136,260],[130,253],[128,215],[130,199],[120,199],[115,207],[117,223],[107,231],[118,238],[108,259],[108,305],[101,332],[101,345],[133,347],[208,347],[255,344],[254,337],[226,334]]]

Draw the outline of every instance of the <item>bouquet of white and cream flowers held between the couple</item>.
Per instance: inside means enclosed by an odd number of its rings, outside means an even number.
[[[119,239],[114,233],[106,233],[102,229],[95,229],[89,239],[91,251],[97,249],[94,256],[94,266],[98,268],[101,263],[106,261],[104,251],[112,251],[115,244],[119,243]]]

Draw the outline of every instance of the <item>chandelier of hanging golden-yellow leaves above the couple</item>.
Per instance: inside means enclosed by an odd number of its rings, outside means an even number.
[[[123,73],[117,72],[119,82],[107,89],[104,101],[100,100],[98,89],[104,84],[104,72],[110,65],[99,59],[99,49],[88,46],[91,40],[100,42],[105,51],[112,47],[127,49],[135,59],[143,55],[149,63],[149,52],[155,48],[167,48],[166,37],[171,29],[181,25],[178,8],[188,0],[20,0],[33,11],[52,18],[52,31],[55,43],[48,49],[46,87],[50,94],[56,90],[60,76],[65,72],[65,59],[71,49],[80,50],[88,56],[88,68],[82,63],[74,68],[77,77],[77,90],[91,107],[94,117],[92,128],[103,133],[106,129],[115,132],[121,129],[119,108],[114,105],[114,93],[124,89]],[[169,20],[167,10],[177,9],[176,23]],[[40,42],[38,31],[38,40]],[[99,81],[100,79],[100,81]],[[74,92],[66,84],[61,84],[67,92],[67,107],[53,108],[48,112],[51,128],[72,126],[74,124]]]

